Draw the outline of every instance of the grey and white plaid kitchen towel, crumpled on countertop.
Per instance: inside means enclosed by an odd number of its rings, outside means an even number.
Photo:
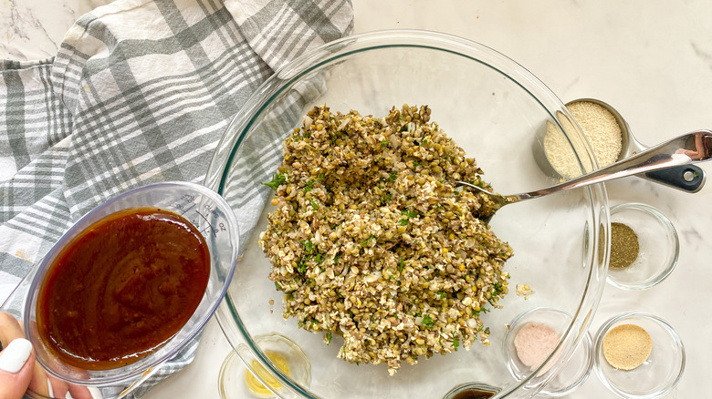
[[[350,0],[117,0],[79,18],[57,56],[5,60],[0,303],[103,200],[156,181],[202,182],[246,98],[352,26]],[[196,346],[132,397],[190,363]]]

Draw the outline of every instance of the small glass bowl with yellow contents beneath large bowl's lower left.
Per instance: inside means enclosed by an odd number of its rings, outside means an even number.
[[[309,386],[311,383],[311,364],[307,355],[287,337],[277,333],[259,335],[255,342],[264,353],[278,353],[289,368],[288,376],[298,384]],[[238,347],[237,351],[247,351],[246,345]],[[246,366],[240,359],[236,351],[231,351],[225,357],[217,380],[217,389],[221,399],[244,399],[244,398],[276,398],[275,394],[262,394],[251,389],[246,381],[248,375],[254,376],[264,387],[269,390],[269,384],[265,384],[263,378],[270,375],[267,369],[253,373],[257,367],[262,367],[256,360],[253,364]],[[278,367],[278,365],[277,365]],[[249,374],[247,374],[249,373]],[[277,379],[275,379],[277,382]],[[279,383],[277,383],[279,384]],[[271,390],[270,390],[271,391]]]

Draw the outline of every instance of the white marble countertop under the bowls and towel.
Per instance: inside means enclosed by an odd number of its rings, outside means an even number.
[[[68,26],[101,1],[3,0],[0,56],[52,56]],[[527,67],[564,102],[594,97],[612,104],[645,144],[712,128],[712,3],[707,0],[353,0],[353,5],[356,33],[418,28],[491,46]],[[701,167],[712,173],[712,165]],[[691,195],[623,179],[607,189],[612,206],[639,201],[662,210],[678,230],[680,258],[672,275],[651,290],[623,292],[607,286],[592,332],[620,312],[661,316],[680,334],[687,354],[685,375],[667,397],[705,397],[712,358],[707,343],[712,240],[706,240],[712,236],[712,187]],[[211,321],[194,363],[145,397],[218,397],[217,373],[229,351]],[[613,394],[592,373],[570,397]]]

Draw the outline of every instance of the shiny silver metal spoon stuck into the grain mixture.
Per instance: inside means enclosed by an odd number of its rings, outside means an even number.
[[[564,181],[547,189],[538,189],[536,191],[503,196],[466,183],[465,181],[455,181],[455,183],[489,195],[492,200],[495,201],[497,209],[499,209],[508,204],[523,200],[532,200],[567,189],[577,189],[608,180],[625,178],[638,173],[680,167],[691,163],[703,162],[710,158],[712,158],[712,130],[698,130],[665,141],[657,146],[644,149],[629,158],[619,160],[605,168],[596,169],[591,173],[582,175],[576,179]],[[492,215],[485,221],[488,222],[488,219],[491,218]]]

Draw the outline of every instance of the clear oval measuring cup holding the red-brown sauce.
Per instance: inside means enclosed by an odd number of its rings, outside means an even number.
[[[136,207],[156,207],[183,215],[201,231],[207,242],[211,270],[202,301],[193,316],[173,337],[155,348],[141,360],[109,370],[82,370],[63,363],[54,356],[47,344],[37,335],[37,294],[49,266],[64,246],[92,223],[119,210]],[[235,214],[225,200],[215,191],[188,182],[162,182],[138,189],[131,189],[100,204],[77,221],[52,247],[47,255],[37,262],[20,285],[3,305],[24,322],[27,339],[33,343],[37,363],[58,380],[53,392],[61,392],[69,386],[76,392],[86,387],[99,389],[104,398],[122,397],[149,378],[162,363],[179,353],[200,333],[222,301],[227,285],[235,271],[238,247],[238,230]],[[71,392],[71,391],[70,391]],[[76,396],[75,392],[75,396]],[[28,392],[32,397],[45,398],[46,394]]]

